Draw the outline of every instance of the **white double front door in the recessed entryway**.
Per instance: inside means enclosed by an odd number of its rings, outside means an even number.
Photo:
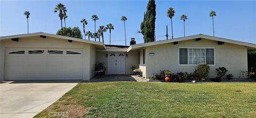
[[[125,53],[108,53],[108,74],[125,74]]]

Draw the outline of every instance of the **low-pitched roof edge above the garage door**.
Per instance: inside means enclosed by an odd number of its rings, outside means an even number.
[[[73,37],[66,37],[66,36],[61,36],[61,35],[53,35],[51,33],[45,33],[45,32],[36,32],[36,33],[28,33],[28,34],[21,34],[21,35],[11,35],[11,36],[3,36],[0,37],[0,40],[5,40],[5,39],[12,39],[12,38],[22,38],[22,37],[33,37],[33,36],[46,36],[46,37],[54,37],[54,38],[61,38],[61,39],[66,39],[66,40],[74,40],[74,41],[79,41],[83,43],[89,43],[92,45],[97,45],[97,46],[102,46],[104,49],[106,49],[105,44],[102,42],[97,42],[97,41],[92,41],[92,40],[84,40],[84,39],[79,39],[79,38],[73,38]]]

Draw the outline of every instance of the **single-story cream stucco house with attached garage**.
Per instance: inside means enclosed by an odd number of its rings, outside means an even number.
[[[224,66],[235,78],[247,71],[247,52],[255,44],[207,35],[107,48],[105,44],[49,33],[1,37],[1,80],[90,80],[94,64],[105,63],[106,74],[131,74],[138,65],[143,77],[170,70],[193,72],[210,65],[209,77]]]

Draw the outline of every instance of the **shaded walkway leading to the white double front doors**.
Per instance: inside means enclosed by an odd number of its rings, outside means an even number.
[[[115,81],[142,81],[146,82],[147,79],[138,78],[134,75],[103,75],[103,76],[95,76],[90,81],[86,82],[115,82]]]

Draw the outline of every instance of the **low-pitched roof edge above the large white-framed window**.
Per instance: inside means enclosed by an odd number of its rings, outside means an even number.
[[[243,45],[243,46],[246,46],[248,50],[256,50],[256,44],[245,43],[245,42],[237,41],[237,40],[231,40],[231,39],[226,39],[226,38],[213,37],[213,36],[199,34],[199,35],[180,37],[180,38],[174,38],[174,39],[169,39],[169,40],[160,40],[160,41],[154,41],[154,42],[150,42],[150,43],[131,45],[127,49],[127,52],[129,52],[130,50],[140,49],[140,48],[147,47],[147,46],[161,45],[161,44],[166,44],[166,43],[173,43],[176,41],[183,41],[183,40],[190,40],[190,39],[197,39],[197,38],[204,38],[204,39],[222,41],[222,42],[230,43],[230,44]]]

